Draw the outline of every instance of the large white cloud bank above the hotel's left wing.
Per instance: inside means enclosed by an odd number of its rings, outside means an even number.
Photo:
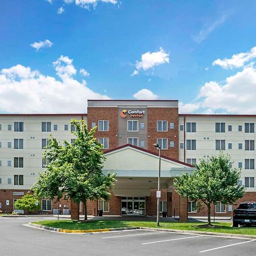
[[[61,80],[20,64],[2,69],[0,112],[85,113],[87,99],[109,99],[72,77],[76,69],[69,57],[61,56],[54,65]]]

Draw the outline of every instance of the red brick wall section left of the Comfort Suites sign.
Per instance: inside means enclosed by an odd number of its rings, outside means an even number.
[[[98,125],[98,120],[109,120],[109,131],[96,131],[96,138],[109,138],[109,149],[118,147],[118,108],[88,108],[88,129],[92,123]]]

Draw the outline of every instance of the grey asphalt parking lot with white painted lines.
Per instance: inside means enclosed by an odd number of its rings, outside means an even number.
[[[255,255],[256,240],[148,230],[67,234],[24,226],[55,217],[0,217],[1,255]]]

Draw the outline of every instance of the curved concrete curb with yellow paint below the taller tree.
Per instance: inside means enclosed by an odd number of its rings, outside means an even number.
[[[28,223],[30,226],[35,226],[36,228],[51,230],[59,233],[95,233],[95,232],[110,232],[110,231],[118,231],[118,230],[131,230],[138,229],[137,227],[133,228],[112,228],[112,229],[59,229],[53,228],[51,226],[42,226],[39,224],[35,224],[33,222]]]

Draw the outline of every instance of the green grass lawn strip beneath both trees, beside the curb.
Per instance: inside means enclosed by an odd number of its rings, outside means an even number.
[[[35,224],[43,226],[51,226],[60,229],[108,229],[108,228],[127,228],[143,226],[147,228],[156,228],[156,223],[152,221],[109,221],[109,220],[95,220],[88,221],[85,223],[77,223],[72,220],[61,220],[61,221],[37,221]],[[160,228],[163,229],[181,229],[181,230],[193,230],[193,231],[207,231],[217,233],[233,233],[233,234],[247,234],[256,236],[256,228],[233,228],[232,223],[228,222],[215,222],[214,228],[202,228],[200,225],[202,222],[160,222]]]

